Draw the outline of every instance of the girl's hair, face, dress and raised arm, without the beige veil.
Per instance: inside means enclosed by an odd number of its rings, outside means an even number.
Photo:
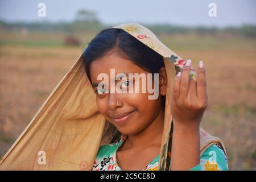
[[[168,82],[163,56],[125,30],[108,28],[92,39],[83,57],[98,110],[109,122],[105,134],[113,138],[98,150],[92,170],[158,170]],[[159,97],[148,100],[148,92],[110,93],[108,84],[99,87],[98,75],[106,73],[111,77],[110,69],[115,73],[158,73]],[[197,82],[189,78],[190,71],[188,60],[175,76],[171,90],[174,128],[170,169],[227,170],[226,155],[219,144],[209,146],[200,157],[200,122],[207,108],[203,61],[197,69]],[[121,85],[121,89],[133,89],[138,80],[110,82]]]

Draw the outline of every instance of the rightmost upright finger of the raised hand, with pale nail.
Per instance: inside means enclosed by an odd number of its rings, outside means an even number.
[[[205,101],[207,100],[207,82],[205,77],[205,68],[203,61],[199,61],[196,80],[197,98],[199,98],[200,101]]]

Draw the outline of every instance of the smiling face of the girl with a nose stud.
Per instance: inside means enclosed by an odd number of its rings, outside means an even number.
[[[122,59],[115,53],[106,54],[101,59],[94,60],[90,64],[90,77],[93,83],[93,89],[96,92],[97,106],[102,115],[107,121],[112,123],[117,129],[126,135],[137,134],[148,125],[155,121],[156,118],[163,117],[163,106],[161,95],[166,94],[167,78],[165,68],[159,73],[159,96],[155,100],[149,100],[148,93],[141,92],[142,81],[139,81],[140,92],[139,93],[104,93],[102,90],[97,89],[97,85],[106,80],[97,80],[100,73],[106,73],[110,82],[114,82],[114,86],[121,84],[122,87],[133,88],[135,80],[129,80],[127,77],[125,80],[110,80],[110,69],[114,69],[115,76],[118,73],[144,73],[147,75],[147,71],[134,64],[130,60]],[[115,77],[114,76],[114,77]],[[113,77],[112,77],[113,78]],[[146,77],[147,79],[147,77]],[[131,83],[133,81],[133,83]],[[151,79],[152,88],[154,88],[154,78]],[[113,85],[113,84],[112,84]],[[105,85],[104,85],[105,86]],[[147,90],[147,89],[146,89]],[[152,95],[152,93],[151,93]],[[162,114],[162,115],[160,115]]]

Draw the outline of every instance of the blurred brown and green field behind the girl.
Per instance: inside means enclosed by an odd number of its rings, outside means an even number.
[[[63,46],[59,32],[0,32],[0,156],[96,33],[77,34],[80,47]],[[256,39],[161,34],[183,59],[207,69],[208,109],[202,127],[226,144],[229,169],[256,169]]]

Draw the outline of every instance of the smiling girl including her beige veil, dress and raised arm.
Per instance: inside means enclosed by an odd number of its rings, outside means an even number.
[[[223,142],[200,129],[205,68],[200,62],[196,76],[190,63],[140,24],[101,31],[3,156],[0,169],[228,169]],[[125,77],[129,73],[139,76]]]

